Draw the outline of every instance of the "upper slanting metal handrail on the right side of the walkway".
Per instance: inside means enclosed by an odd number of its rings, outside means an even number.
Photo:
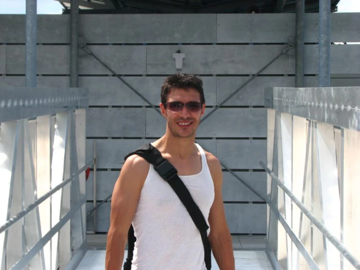
[[[286,186],[281,182],[281,180],[264,164],[260,161],[259,164],[264,170],[275,180],[276,184],[291,198],[291,200],[300,208],[300,210],[310,219],[310,221],[322,232],[322,234],[335,246],[335,248],[340,251],[340,253],[355,267],[355,269],[360,270],[360,262],[354,257],[350,251],[348,251],[345,246],[331,234],[330,231],[319,221],[304,205],[299,201],[294,193],[292,193]]]

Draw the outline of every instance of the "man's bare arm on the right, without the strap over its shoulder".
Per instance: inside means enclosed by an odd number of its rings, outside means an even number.
[[[209,213],[209,241],[220,270],[235,270],[232,240],[227,227],[223,196],[223,172],[219,160],[213,154],[207,154],[207,161],[214,182],[215,198]]]

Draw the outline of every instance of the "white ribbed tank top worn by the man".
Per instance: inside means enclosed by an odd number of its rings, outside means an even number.
[[[195,145],[201,153],[201,172],[179,177],[208,223],[214,185],[204,150]],[[152,165],[141,190],[133,228],[136,242],[132,270],[206,270],[199,230],[179,197]]]

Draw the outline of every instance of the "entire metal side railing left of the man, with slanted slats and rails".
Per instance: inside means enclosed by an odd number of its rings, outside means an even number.
[[[85,251],[80,88],[0,87],[0,269],[69,269]]]

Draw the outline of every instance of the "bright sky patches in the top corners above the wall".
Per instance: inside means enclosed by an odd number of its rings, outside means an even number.
[[[0,14],[25,14],[26,0],[0,0]],[[38,14],[61,14],[55,0],[38,0]],[[340,0],[338,12],[360,12],[360,0]]]

